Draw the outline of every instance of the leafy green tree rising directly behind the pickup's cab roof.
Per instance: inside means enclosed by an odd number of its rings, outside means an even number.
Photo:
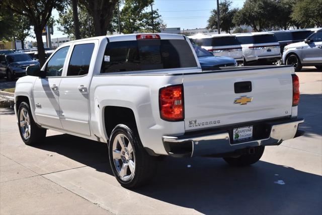
[[[125,0],[120,12],[122,33],[152,32],[150,6],[153,0]],[[153,29],[159,32],[163,20],[157,10],[153,10]]]

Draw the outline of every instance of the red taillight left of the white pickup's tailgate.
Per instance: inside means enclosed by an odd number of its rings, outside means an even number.
[[[183,86],[174,85],[159,91],[160,117],[167,121],[184,119]]]

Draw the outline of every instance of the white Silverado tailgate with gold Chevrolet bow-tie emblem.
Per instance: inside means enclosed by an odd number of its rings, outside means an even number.
[[[291,115],[291,71],[281,66],[184,74],[185,129]]]

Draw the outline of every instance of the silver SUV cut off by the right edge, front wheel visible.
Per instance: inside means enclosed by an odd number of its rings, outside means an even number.
[[[322,29],[316,30],[302,42],[285,46],[283,63],[293,65],[295,71],[300,71],[303,65],[322,70]]]

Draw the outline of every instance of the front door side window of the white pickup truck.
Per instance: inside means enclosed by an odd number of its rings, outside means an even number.
[[[46,77],[61,76],[69,46],[59,49],[47,63]]]

